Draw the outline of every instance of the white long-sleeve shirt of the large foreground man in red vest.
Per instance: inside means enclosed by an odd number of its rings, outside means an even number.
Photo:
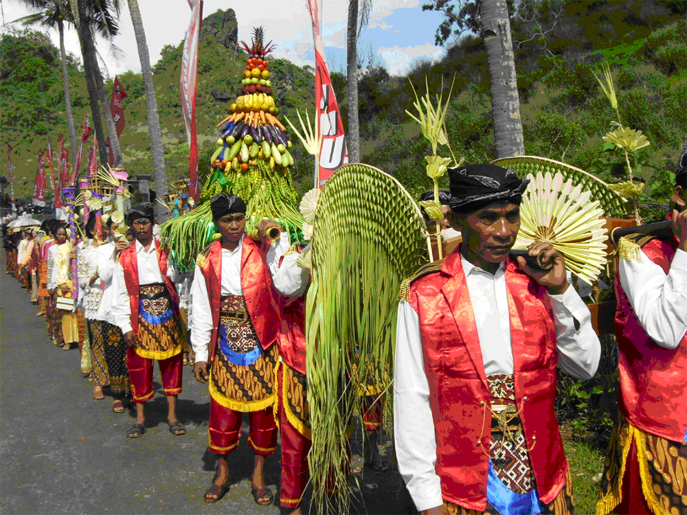
[[[513,374],[504,266],[491,275],[461,259],[480,337],[485,373],[487,376]],[[556,325],[559,366],[574,377],[592,378],[598,367],[601,346],[592,328],[589,309],[572,287],[568,287],[563,295],[549,295],[549,298]],[[575,320],[579,330],[575,328]],[[460,431],[460,428],[455,428],[455,431]],[[417,312],[407,302],[398,306],[396,324],[394,437],[398,470],[416,508],[422,511],[441,505],[440,479],[434,469],[436,437],[420,340],[420,321]]]

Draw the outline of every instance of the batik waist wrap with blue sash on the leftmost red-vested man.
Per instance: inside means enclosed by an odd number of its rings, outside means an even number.
[[[136,354],[157,360],[176,356],[181,352],[182,334],[166,286],[162,283],[140,286]]]

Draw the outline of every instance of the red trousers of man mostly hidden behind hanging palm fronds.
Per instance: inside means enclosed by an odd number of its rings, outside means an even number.
[[[282,433],[282,488],[280,503],[284,507],[297,508],[308,483],[308,452],[313,442],[304,437],[286,417],[284,411],[283,364],[277,374],[279,396],[279,428]]]

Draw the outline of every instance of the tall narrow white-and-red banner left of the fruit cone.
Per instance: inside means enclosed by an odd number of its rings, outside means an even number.
[[[198,41],[203,21],[203,1],[187,0],[191,8],[191,22],[183,42],[181,58],[181,111],[186,124],[186,139],[189,146],[188,194],[198,201],[198,136],[196,135],[196,80],[198,78]]]

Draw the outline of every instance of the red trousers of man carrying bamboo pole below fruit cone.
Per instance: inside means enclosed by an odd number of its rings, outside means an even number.
[[[241,435],[242,411],[224,407],[210,397],[210,450],[218,455],[227,455],[238,447]],[[249,411],[251,428],[248,445],[256,454],[269,456],[277,450],[277,424],[274,422],[273,407],[261,411]]]

